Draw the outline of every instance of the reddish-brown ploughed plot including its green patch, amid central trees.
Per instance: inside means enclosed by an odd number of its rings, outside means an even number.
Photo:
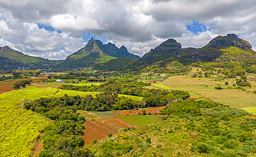
[[[147,113],[158,112],[164,107],[154,107],[147,108]],[[144,124],[149,124],[149,122],[156,122],[156,118],[152,118],[153,116],[140,116],[138,115],[142,109],[138,109],[135,111],[125,110],[125,111],[106,111],[106,112],[81,112],[83,116],[88,118],[89,116],[98,116],[94,120],[87,120],[84,123],[84,141],[85,145],[89,145],[89,143],[96,139],[101,140],[102,138],[106,138],[109,133],[116,134],[120,130],[128,128],[128,127],[139,127]],[[83,114],[84,113],[84,114]],[[114,116],[111,116],[114,115]],[[100,117],[102,116],[102,117]],[[108,116],[108,117],[104,117]]]

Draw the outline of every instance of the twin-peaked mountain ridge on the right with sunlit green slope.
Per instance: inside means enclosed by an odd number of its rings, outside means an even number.
[[[192,62],[256,63],[256,52],[248,41],[239,39],[235,34],[216,37],[202,48],[181,48],[181,44],[175,39],[167,39],[156,48],[152,48],[140,59],[118,68],[140,69],[152,64],[165,66],[174,61],[181,62],[184,65]],[[115,71],[115,69],[112,70]]]

